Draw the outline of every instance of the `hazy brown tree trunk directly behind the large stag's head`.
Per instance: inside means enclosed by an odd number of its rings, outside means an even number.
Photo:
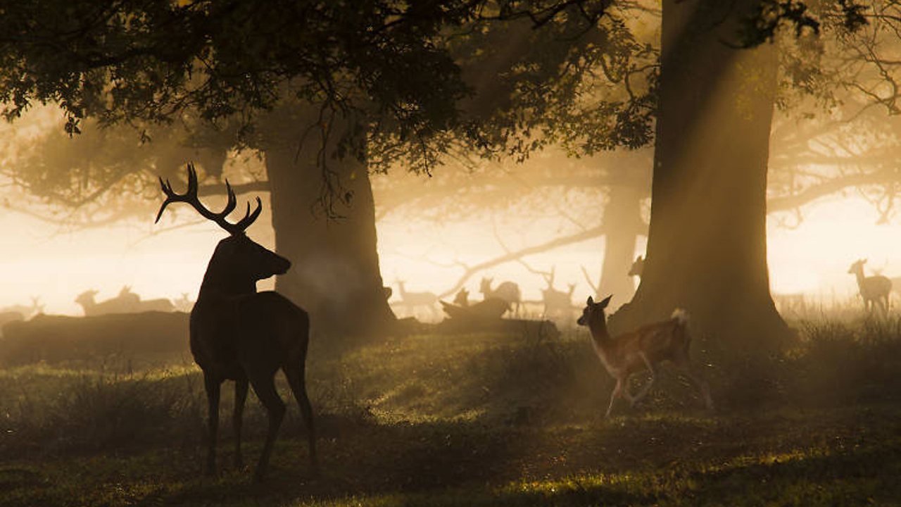
[[[290,144],[265,150],[276,249],[293,264],[276,287],[310,313],[320,336],[378,335],[395,317],[382,289],[369,175],[357,161],[329,161],[352,198],[342,217],[328,219],[317,202],[318,148],[307,140],[300,152]]]

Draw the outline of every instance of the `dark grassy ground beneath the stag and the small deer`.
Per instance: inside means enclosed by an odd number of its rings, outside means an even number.
[[[230,466],[229,390],[220,473],[200,475],[187,355],[0,369],[0,505],[901,505],[901,325],[798,327],[778,356],[698,340],[713,414],[665,371],[608,420],[612,382],[584,333],[314,348],[322,475],[292,405],[262,485]],[[251,397],[246,461],[265,428]]]

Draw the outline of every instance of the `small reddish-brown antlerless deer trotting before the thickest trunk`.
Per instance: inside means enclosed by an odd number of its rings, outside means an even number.
[[[604,417],[610,417],[614,401],[618,398],[624,397],[633,407],[641,401],[651,390],[651,385],[657,377],[657,365],[666,360],[676,364],[696,384],[704,396],[707,409],[713,410],[714,401],[710,398],[710,389],[704,379],[694,372],[691,359],[688,357],[691,336],[688,335],[686,312],[676,309],[669,320],[648,324],[629,333],[613,337],[607,332],[604,313],[604,309],[612,297],[607,296],[605,300],[596,303],[589,296],[586,307],[582,310],[582,316],[576,321],[579,326],[587,326],[591,330],[595,352],[600,358],[601,364],[604,364],[607,373],[610,373],[616,380],[616,386],[610,396],[610,404],[607,406]],[[651,382],[633,396],[629,392],[629,377],[644,369],[651,373]]]

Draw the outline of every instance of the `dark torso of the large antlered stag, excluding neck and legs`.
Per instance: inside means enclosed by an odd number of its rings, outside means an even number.
[[[275,372],[304,360],[309,329],[307,313],[272,290],[200,299],[191,311],[191,353],[223,378],[241,375],[247,364]]]

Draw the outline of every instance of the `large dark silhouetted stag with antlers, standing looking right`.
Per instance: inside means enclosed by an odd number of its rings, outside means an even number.
[[[229,236],[216,245],[206,268],[204,281],[191,310],[190,345],[195,361],[204,372],[209,405],[209,450],[206,473],[215,471],[216,432],[219,425],[219,390],[226,380],[235,381],[234,444],[235,466],[241,467],[241,414],[247,399],[248,383],[268,412],[268,432],[254,474],[259,481],[266,473],[269,455],[285,417],[285,403],[278,396],[275,374],[281,369],[294,392],[308,429],[310,466],[317,470],[313,409],[306,396],[305,360],[310,335],[310,319],[278,292],[257,292],[256,282],[284,274],[291,263],[277,253],[254,243],[244,231],[259,217],[262,203],[236,224],[225,217],[235,207],[232,187],[225,182],[228,203],[220,213],[208,210],[197,198],[197,174],[187,166],[187,191],[177,194],[168,180],[159,180],[166,200],[159,207],[157,221],[169,203],[190,204],[203,217],[221,226]]]

